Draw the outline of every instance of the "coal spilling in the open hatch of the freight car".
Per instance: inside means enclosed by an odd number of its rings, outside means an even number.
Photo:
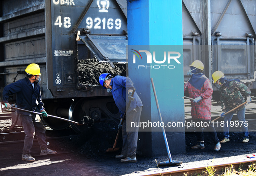
[[[102,73],[110,73],[112,76],[126,76],[127,63],[113,63],[115,68],[110,66],[110,63],[98,61],[96,58],[87,60],[78,60],[78,84],[98,86],[99,77]]]

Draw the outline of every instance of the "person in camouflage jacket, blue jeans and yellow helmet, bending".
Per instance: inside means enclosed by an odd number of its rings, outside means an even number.
[[[226,115],[224,114],[240,104],[243,104],[245,102],[243,95],[246,96],[246,101],[249,104],[251,102],[250,89],[240,82],[239,79],[227,79],[221,71],[214,72],[212,74],[212,78],[214,79],[214,83],[216,82],[219,87],[221,108],[223,111],[220,116],[224,118],[224,139],[220,141],[220,143],[230,141],[229,127],[234,113],[237,113],[239,122],[242,123],[239,126],[241,126],[243,130],[243,143],[247,143],[249,141],[249,133],[248,123],[245,121],[245,105],[227,113]]]

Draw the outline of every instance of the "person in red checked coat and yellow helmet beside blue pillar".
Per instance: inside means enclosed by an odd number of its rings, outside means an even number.
[[[195,60],[190,65],[188,75],[191,75],[188,82],[184,85],[184,93],[193,98],[191,101],[191,116],[194,123],[209,124],[208,126],[195,126],[197,144],[192,149],[204,148],[204,131],[210,133],[214,141],[214,151],[220,150],[220,140],[217,137],[213,123],[211,123],[211,95],[213,89],[210,80],[202,73],[204,64],[200,60]]]

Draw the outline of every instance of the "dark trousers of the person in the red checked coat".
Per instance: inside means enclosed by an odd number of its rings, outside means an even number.
[[[198,124],[198,126],[196,126],[195,128],[198,142],[204,141],[204,132],[209,132],[211,138],[214,141],[214,144],[217,144],[220,141],[218,139],[213,123],[210,122],[211,120],[193,119],[193,121]],[[209,124],[209,126],[207,126],[206,124]]]

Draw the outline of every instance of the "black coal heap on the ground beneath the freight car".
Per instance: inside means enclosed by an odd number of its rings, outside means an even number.
[[[70,135],[67,138],[59,140],[58,144],[52,142],[53,148],[59,148],[61,151],[75,151],[74,154],[86,158],[93,157],[107,158],[111,155],[105,151],[112,148],[117,136],[118,127],[114,123],[94,123],[91,128],[85,129],[77,135]],[[117,148],[122,147],[122,137],[119,136]],[[116,153],[120,154],[121,149]],[[114,154],[116,154],[114,153]]]

